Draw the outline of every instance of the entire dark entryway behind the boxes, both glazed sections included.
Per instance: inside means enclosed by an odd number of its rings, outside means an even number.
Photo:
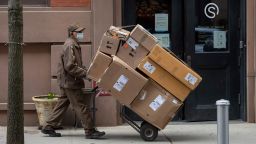
[[[141,24],[203,77],[176,120],[216,120],[218,99],[241,118],[240,8],[240,0],[123,0],[124,26]]]

